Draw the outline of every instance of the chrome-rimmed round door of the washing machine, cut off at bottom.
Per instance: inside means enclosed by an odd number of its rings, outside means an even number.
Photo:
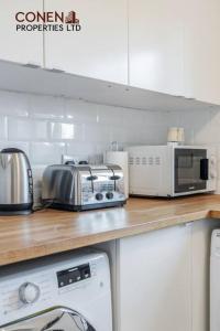
[[[23,318],[7,325],[0,331],[97,331],[79,312],[54,307],[34,316]]]

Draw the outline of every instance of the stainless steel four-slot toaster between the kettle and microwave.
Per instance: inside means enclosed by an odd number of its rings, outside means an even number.
[[[125,203],[119,166],[48,166],[43,174],[43,203],[54,209],[84,211]]]

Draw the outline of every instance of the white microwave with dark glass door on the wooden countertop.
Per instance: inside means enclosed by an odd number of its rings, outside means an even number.
[[[215,148],[174,143],[127,150],[130,194],[170,197],[216,190]]]

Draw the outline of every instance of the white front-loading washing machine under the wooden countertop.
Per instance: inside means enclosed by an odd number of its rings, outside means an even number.
[[[0,330],[112,331],[107,255],[82,250],[1,268]]]

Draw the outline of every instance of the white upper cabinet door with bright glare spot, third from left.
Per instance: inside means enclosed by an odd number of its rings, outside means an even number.
[[[129,0],[130,84],[184,94],[183,0]]]

